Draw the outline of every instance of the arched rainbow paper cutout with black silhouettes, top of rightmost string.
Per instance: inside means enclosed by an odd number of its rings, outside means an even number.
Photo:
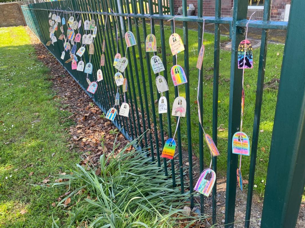
[[[246,57],[245,57],[245,51],[246,51]],[[243,40],[239,43],[238,46],[238,68],[253,68],[253,50],[252,45],[249,40]],[[244,60],[245,59],[245,60]]]

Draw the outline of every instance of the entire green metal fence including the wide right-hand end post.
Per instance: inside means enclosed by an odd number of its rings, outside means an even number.
[[[188,50],[188,22],[198,23],[198,51],[202,43],[203,20],[206,23],[215,24],[215,42],[214,42],[214,75],[213,75],[213,140],[217,145],[217,110],[218,110],[218,85],[219,85],[219,56],[220,56],[220,25],[229,24],[231,27],[232,52],[231,52],[231,77],[230,77],[230,100],[229,100],[229,129],[228,129],[228,159],[227,159],[227,188],[226,188],[226,210],[225,210],[225,227],[234,226],[235,216],[235,199],[236,199],[236,167],[238,155],[232,154],[231,141],[233,134],[239,129],[241,117],[241,94],[242,94],[242,71],[237,67],[237,47],[244,39],[245,26],[248,20],[247,7],[248,0],[234,1],[234,10],[232,18],[221,17],[221,1],[215,1],[215,17],[203,17],[203,0],[198,0],[198,16],[187,16],[187,1],[182,0],[183,16],[176,17],[176,21],[183,22],[183,42],[184,42],[184,68],[189,72],[189,50]],[[148,18],[151,22],[152,33],[155,31],[155,23],[160,25],[161,35],[161,52],[162,61],[167,62],[166,46],[168,37],[164,35],[164,20],[174,18],[174,1],[163,0],[153,2],[152,0],[134,1],[134,0],[64,0],[54,2],[41,2],[36,4],[24,5],[23,14],[28,26],[33,33],[38,36],[43,44],[50,40],[48,14],[56,13],[66,20],[73,15],[78,20],[95,19],[98,22],[98,32],[95,38],[95,54],[91,57],[93,64],[93,73],[90,75],[91,81],[96,75],[97,69],[100,68],[100,56],[102,54],[102,40],[105,37],[105,67],[102,67],[104,80],[97,88],[97,92],[92,95],[86,91],[88,86],[85,74],[81,71],[71,69],[71,64],[65,64],[61,54],[63,43],[59,40],[54,46],[48,46],[48,50],[56,59],[66,68],[70,75],[84,89],[92,100],[107,112],[114,105],[116,86],[114,82],[115,69],[112,65],[114,55],[124,53],[126,44],[124,41],[124,31],[129,30],[135,34],[138,44],[144,42],[141,40],[147,36],[146,27]],[[252,21],[249,27],[261,28],[261,46],[260,58],[258,64],[257,91],[255,100],[255,113],[253,125],[253,138],[251,148],[251,165],[249,174],[249,189],[247,197],[247,211],[245,216],[245,227],[250,226],[250,214],[253,195],[253,181],[255,173],[255,161],[257,154],[258,131],[260,125],[260,112],[262,105],[264,71],[266,65],[267,41],[269,29],[287,29],[287,38],[285,45],[285,54],[282,65],[281,82],[278,92],[278,101],[274,119],[274,130],[271,143],[270,161],[267,173],[266,192],[264,198],[264,208],[261,221],[261,227],[294,227],[300,207],[301,197],[305,184],[305,2],[303,0],[292,0],[290,19],[287,22],[272,22],[270,20],[271,0],[264,1],[264,18],[262,21]],[[169,15],[166,13],[169,12]],[[106,23],[106,18],[108,23]],[[117,20],[119,21],[118,23]],[[155,21],[156,20],[156,21]],[[132,24],[133,22],[133,24]],[[106,29],[105,28],[106,23]],[[140,31],[139,23],[142,26]],[[174,31],[174,20],[171,20],[171,31]],[[116,30],[118,25],[118,34]],[[63,26],[64,30],[68,27]],[[135,29],[133,31],[133,29]],[[85,34],[83,26],[80,33]],[[56,37],[60,31],[55,32]],[[119,39],[116,41],[116,36]],[[118,44],[118,45],[117,45]],[[159,44],[159,43],[158,43]],[[77,49],[80,44],[77,44]],[[130,104],[129,118],[117,115],[113,121],[114,125],[121,129],[121,132],[128,140],[137,138],[143,132],[144,139],[139,142],[142,148],[148,148],[152,161],[156,160],[159,166],[164,167],[165,175],[171,176],[173,185],[179,184],[181,192],[189,192],[191,195],[191,206],[195,205],[193,191],[193,166],[192,166],[192,135],[191,135],[191,118],[190,107],[186,109],[186,126],[188,141],[188,166],[182,163],[181,147],[181,130],[178,125],[177,129],[177,159],[166,160],[160,157],[160,151],[164,146],[164,136],[173,136],[172,121],[170,109],[167,115],[157,114],[155,110],[155,99],[160,95],[154,87],[155,77],[150,68],[150,54],[142,50],[141,45],[127,48],[126,57],[128,66],[125,70],[128,88],[126,102]],[[146,59],[146,61],[144,60]],[[296,59],[298,61],[296,61]],[[89,62],[87,53],[83,56],[84,62]],[[138,64],[139,63],[139,64]],[[173,64],[176,58],[173,57]],[[164,78],[168,81],[167,64],[164,64]],[[144,68],[147,68],[149,79],[145,78]],[[200,74],[200,75],[199,75]],[[203,119],[203,73],[198,71],[200,76],[199,104],[201,107],[201,119]],[[189,81],[188,74],[186,75]],[[120,93],[122,90],[120,88]],[[175,88],[175,95],[178,96],[178,90]],[[170,107],[169,94],[165,92],[167,106]],[[185,98],[190,104],[189,83],[185,84]],[[123,98],[121,97],[121,102]],[[198,121],[198,120],[196,120]],[[166,128],[164,126],[167,126]],[[200,171],[203,171],[203,131],[199,127],[199,161]],[[217,172],[217,158],[213,157],[213,170]],[[188,179],[186,177],[189,177]],[[179,181],[179,183],[177,183]],[[216,194],[217,185],[215,184],[212,192],[213,200],[213,224],[216,223]],[[200,195],[200,209],[204,213],[205,197]]]

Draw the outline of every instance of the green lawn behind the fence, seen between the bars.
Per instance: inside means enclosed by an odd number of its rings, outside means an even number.
[[[147,34],[150,33],[150,26],[146,24]],[[140,29],[140,37],[141,41],[145,40],[143,37],[143,27],[142,24],[139,25]],[[160,26],[155,25],[156,30],[156,39],[157,39],[157,48],[161,49],[161,37],[160,37]],[[166,54],[167,54],[167,75],[168,75],[168,86],[169,86],[169,94],[170,94],[170,110],[172,103],[174,102],[175,94],[174,94],[174,85],[170,78],[170,68],[173,66],[172,64],[172,54],[170,51],[170,47],[168,44],[168,38],[171,34],[170,27],[165,26],[165,40],[166,40]],[[133,26],[133,33],[136,36],[135,26]],[[183,38],[183,30],[176,28],[176,33],[178,33]],[[198,112],[197,105],[195,101],[197,99],[197,85],[198,85],[198,69],[196,68],[197,57],[198,57],[198,40],[197,40],[197,31],[188,30],[188,48],[189,48],[189,85],[190,85],[190,101],[191,103],[191,124],[192,124],[192,148],[193,152],[198,155],[199,153],[199,127],[198,127]],[[137,39],[137,38],[136,38]],[[228,37],[221,36],[221,42],[228,41]],[[138,45],[138,44],[137,44]],[[213,107],[213,61],[214,61],[214,35],[210,33],[205,33],[204,35],[204,45],[205,45],[205,56],[203,60],[203,68],[204,68],[204,82],[203,82],[203,123],[206,129],[206,133],[212,135],[212,107]],[[145,50],[145,43],[141,42],[142,50]],[[135,48],[135,54],[137,57],[137,66],[138,72],[140,75],[140,85],[141,91],[143,95],[143,85],[141,71],[140,71],[140,60],[138,55],[138,48]],[[130,48],[131,51],[131,48]],[[243,118],[243,131],[249,136],[250,141],[252,140],[252,131],[253,131],[253,119],[254,119],[254,108],[255,108],[255,96],[256,96],[256,86],[257,86],[257,73],[258,73],[258,62],[259,62],[259,51],[260,49],[255,49],[253,51],[254,55],[254,68],[248,69],[245,71],[245,95],[246,95],[246,103],[245,103],[245,114]],[[265,82],[271,81],[272,78],[279,78],[281,67],[282,67],[282,57],[283,57],[284,45],[282,44],[268,44],[268,52],[267,52],[267,64],[265,71]],[[122,54],[122,53],[121,53]],[[159,52],[157,54],[162,59],[162,54]],[[122,55],[124,56],[124,54]],[[152,53],[150,53],[150,58],[152,57]],[[145,54],[143,55],[145,58]],[[132,59],[132,51],[131,51],[131,59]],[[218,126],[221,125],[224,128],[223,131],[218,132],[218,150],[220,151],[220,156],[217,161],[218,173],[220,176],[226,175],[227,168],[227,148],[228,148],[228,109],[229,109],[229,87],[230,87],[230,61],[231,61],[231,51],[221,50],[220,51],[220,79],[219,79],[219,103],[218,103]],[[149,78],[147,75],[147,67],[146,60],[143,60],[144,63],[144,72],[145,72],[145,81],[146,81],[146,89],[149,94]],[[130,64],[130,63],[129,63]],[[131,61],[133,65],[133,69],[135,66],[133,64],[133,60]],[[184,67],[184,53],[178,54],[178,64]],[[127,67],[128,68],[128,67]],[[128,68],[129,70],[129,68]],[[151,70],[152,71],[152,70]],[[153,72],[152,72],[153,73]],[[133,72],[135,78],[135,72]],[[164,75],[164,72],[160,73]],[[129,76],[130,77],[130,76]],[[136,79],[135,83],[136,83]],[[155,83],[155,76],[152,75],[152,84],[153,84],[153,94],[154,100],[157,99],[157,89]],[[135,85],[135,90],[138,93],[137,86]],[[130,89],[131,86],[129,86]],[[185,86],[179,86],[180,95],[185,97]],[[149,96],[149,95],[148,95]],[[139,98],[138,98],[139,99]],[[267,166],[268,166],[268,158],[271,144],[271,136],[273,129],[273,120],[274,120],[274,112],[275,105],[277,100],[277,90],[265,89],[263,95],[263,103],[262,103],[262,112],[261,112],[261,123],[260,130],[264,130],[260,132],[259,142],[258,142],[258,152],[257,152],[257,168],[255,174],[255,185],[257,185],[256,189],[257,193],[260,195],[264,195],[264,184],[266,181],[267,175]],[[139,102],[139,101],[138,101]],[[144,102],[144,97],[143,97]],[[149,99],[149,106],[150,106]],[[158,104],[155,104],[156,112],[158,110]],[[144,105],[145,108],[145,105]],[[151,109],[149,109],[151,110]],[[157,118],[159,116],[157,115]],[[172,117],[172,129],[174,131],[175,118]],[[157,120],[159,124],[159,121]],[[182,137],[182,146],[183,149],[187,150],[188,142],[187,142],[187,125],[186,118],[180,119],[181,123],[181,137]],[[163,124],[167,125],[167,115],[163,114]],[[160,126],[158,126],[160,127]],[[164,127],[165,132],[167,132],[167,126]],[[251,148],[251,147],[250,147]],[[177,151],[176,151],[177,153]],[[205,164],[210,164],[210,151],[205,146]],[[244,179],[248,179],[249,177],[249,166],[250,166],[250,157],[243,156],[242,158],[242,174]],[[262,182],[264,181],[264,182]]]

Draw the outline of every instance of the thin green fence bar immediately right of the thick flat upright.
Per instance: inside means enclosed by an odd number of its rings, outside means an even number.
[[[264,17],[263,17],[264,21],[270,20],[271,2],[272,1],[270,1],[270,0],[265,0]],[[260,60],[259,60],[259,66],[258,66],[257,89],[256,89],[256,98],[255,98],[253,137],[252,137],[252,146],[251,146],[251,159],[250,159],[249,184],[248,184],[247,206],[246,206],[246,216],[245,216],[245,228],[249,228],[250,223],[251,223],[250,217],[251,217],[255,165],[256,165],[256,157],[257,157],[258,134],[259,134],[259,129],[260,129],[260,112],[261,112],[261,107],[262,107],[263,90],[264,90],[264,77],[265,77],[265,67],[266,67],[266,57],[267,57],[268,34],[269,34],[269,29],[262,30],[261,45],[260,45]]]

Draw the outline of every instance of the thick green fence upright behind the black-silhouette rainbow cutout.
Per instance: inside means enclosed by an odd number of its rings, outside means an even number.
[[[225,228],[234,227],[235,198],[236,198],[236,168],[237,154],[232,154],[232,137],[239,131],[242,97],[242,70],[237,66],[237,51],[244,35],[239,33],[236,21],[247,17],[248,0],[236,0],[233,3],[233,34],[231,52],[231,77],[229,100],[229,127],[228,127],[228,161],[227,161],[227,189]]]

